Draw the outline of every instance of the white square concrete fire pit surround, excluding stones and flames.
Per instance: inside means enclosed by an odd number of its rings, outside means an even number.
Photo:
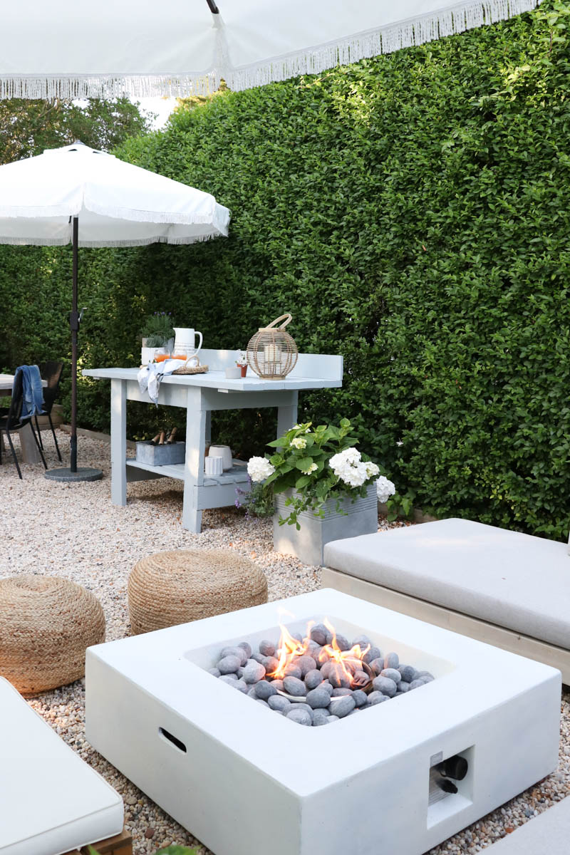
[[[208,673],[325,617],[435,679],[302,727]],[[85,730],[216,855],[421,855],[555,769],[560,698],[555,669],[321,590],[90,647]]]

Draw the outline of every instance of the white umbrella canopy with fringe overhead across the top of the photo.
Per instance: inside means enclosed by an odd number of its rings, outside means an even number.
[[[422,44],[538,3],[20,0],[3,4],[0,97],[184,96],[214,91],[222,78],[242,90]]]

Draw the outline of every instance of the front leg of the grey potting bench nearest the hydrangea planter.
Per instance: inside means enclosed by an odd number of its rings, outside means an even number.
[[[199,388],[188,390],[186,407],[186,459],[184,472],[184,506],[182,528],[194,534],[202,530],[202,510],[197,509],[197,487],[204,481],[204,451],[206,448],[206,421],[202,392]]]

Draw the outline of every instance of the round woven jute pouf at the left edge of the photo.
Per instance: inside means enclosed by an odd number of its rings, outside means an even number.
[[[65,686],[85,674],[85,648],[105,640],[92,593],[57,576],[0,580],[0,675],[22,694]]]

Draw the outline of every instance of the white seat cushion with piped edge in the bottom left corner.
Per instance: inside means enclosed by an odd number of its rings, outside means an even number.
[[[119,793],[0,677],[0,853],[60,855],[122,828]]]

